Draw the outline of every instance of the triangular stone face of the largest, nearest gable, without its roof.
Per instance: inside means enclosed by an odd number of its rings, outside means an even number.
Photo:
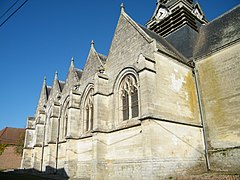
[[[137,61],[140,53],[153,58],[151,39],[122,9],[109,50],[106,71],[109,76]]]

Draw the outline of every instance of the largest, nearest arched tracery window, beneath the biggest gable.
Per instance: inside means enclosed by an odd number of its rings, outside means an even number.
[[[138,117],[138,86],[132,75],[125,76],[120,84],[120,106],[122,120]]]

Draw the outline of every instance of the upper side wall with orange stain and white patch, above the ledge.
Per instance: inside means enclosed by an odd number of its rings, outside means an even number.
[[[192,68],[159,53],[155,53],[155,61],[153,114],[167,120],[201,125]]]

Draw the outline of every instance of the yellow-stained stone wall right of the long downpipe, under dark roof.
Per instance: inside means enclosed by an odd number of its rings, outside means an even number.
[[[196,63],[211,168],[240,169],[240,44]]]

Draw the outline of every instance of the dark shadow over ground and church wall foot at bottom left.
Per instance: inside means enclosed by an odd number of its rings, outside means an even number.
[[[46,171],[41,172],[36,169],[15,169],[14,171],[8,171],[6,173],[0,173],[0,179],[69,179],[64,168],[56,169],[50,166],[46,167]]]

